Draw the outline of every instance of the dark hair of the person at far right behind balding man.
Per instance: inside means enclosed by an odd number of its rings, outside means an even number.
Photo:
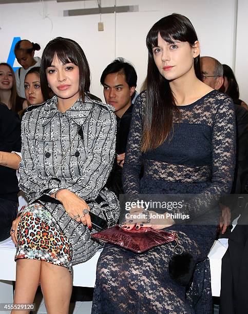
[[[226,91],[224,90],[224,84],[222,85],[222,90],[228,96],[230,96],[235,104],[238,103],[239,100],[239,86],[236,81],[236,77],[234,75],[233,70],[226,64],[223,64],[223,77],[226,77],[228,82],[228,87]]]

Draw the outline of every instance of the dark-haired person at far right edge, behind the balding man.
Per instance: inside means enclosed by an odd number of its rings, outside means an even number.
[[[226,64],[223,64],[223,77],[224,83],[220,91],[230,96],[234,104],[240,105],[248,110],[248,105],[244,101],[239,99],[239,86],[234,72],[230,68],[230,66]]]

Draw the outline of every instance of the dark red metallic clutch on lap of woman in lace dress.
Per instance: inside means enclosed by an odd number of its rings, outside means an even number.
[[[177,232],[167,232],[152,228],[124,231],[119,226],[91,234],[92,238],[119,245],[136,253],[145,252],[152,247],[177,241]]]

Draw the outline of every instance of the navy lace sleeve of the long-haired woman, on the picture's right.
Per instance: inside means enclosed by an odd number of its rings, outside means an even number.
[[[189,214],[190,220],[210,212],[223,194],[231,192],[236,155],[236,124],[233,101],[222,96],[214,117],[212,132],[212,178],[211,183],[199,197],[185,204],[183,213]],[[216,208],[217,209],[217,208]],[[176,223],[182,221],[175,220]]]

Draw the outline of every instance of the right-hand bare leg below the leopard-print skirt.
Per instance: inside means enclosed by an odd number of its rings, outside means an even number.
[[[63,266],[41,263],[41,288],[47,312],[68,314],[72,291],[70,272]]]

